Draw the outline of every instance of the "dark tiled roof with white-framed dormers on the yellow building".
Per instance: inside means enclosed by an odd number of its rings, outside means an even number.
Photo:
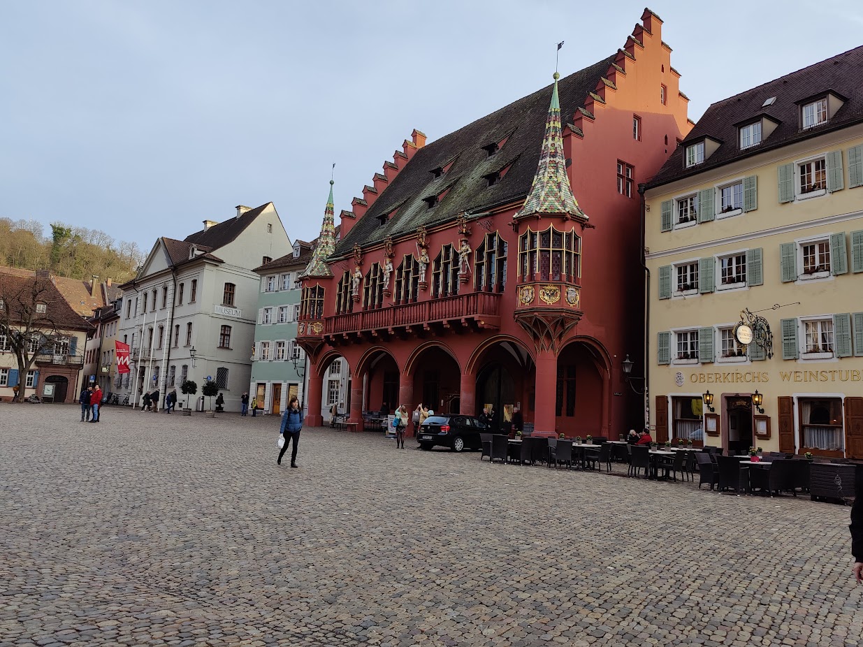
[[[828,91],[846,99],[845,103],[827,123],[801,130],[801,102],[819,97]],[[772,105],[763,106],[770,97],[776,97],[776,101]],[[738,126],[745,124],[747,120],[755,121],[762,115],[779,122],[777,129],[758,146],[740,150],[737,141]],[[831,130],[847,128],[858,122],[863,122],[863,46],[712,104],[648,186],[664,185],[675,179],[702,173],[709,168],[787,146],[795,141],[823,135]],[[683,154],[686,146],[702,140],[706,135],[720,141],[720,147],[702,164],[684,168]]]

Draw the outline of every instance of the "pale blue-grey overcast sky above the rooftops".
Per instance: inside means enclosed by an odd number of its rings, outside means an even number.
[[[854,5],[858,8],[854,9]],[[411,130],[438,139],[622,47],[644,0],[0,0],[0,217],[148,251],[274,202],[318,235]],[[651,5],[697,121],[863,44],[847,0]],[[46,226],[46,231],[48,231]]]

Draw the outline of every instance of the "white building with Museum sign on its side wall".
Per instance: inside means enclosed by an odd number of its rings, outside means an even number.
[[[117,339],[131,346],[132,372],[121,393],[136,393],[140,404],[145,392],[176,389],[178,408],[193,407],[180,385],[196,382],[200,399],[210,376],[225,409],[239,411],[249,388],[261,284],[252,270],[291,248],[273,203],[237,206],[236,217],[205,220],[183,241],[157,240],[135,279],[122,286]]]

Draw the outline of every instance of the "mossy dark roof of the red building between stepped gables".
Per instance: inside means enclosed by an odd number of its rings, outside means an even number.
[[[608,72],[614,57],[603,59],[580,72],[560,79],[561,114],[569,121],[584,99]],[[450,135],[420,148],[371,208],[336,245],[334,255],[350,252],[354,243],[368,245],[386,236],[398,236],[454,219],[461,211],[476,212],[496,204],[526,198],[537,172],[545,134],[545,120],[551,100],[551,85],[469,123]],[[482,147],[508,136],[506,144],[491,157]],[[447,173],[435,179],[434,169],[452,161]],[[488,186],[485,175],[509,167],[500,182]],[[429,209],[425,198],[449,189],[444,199]],[[397,210],[381,226],[378,219]]]

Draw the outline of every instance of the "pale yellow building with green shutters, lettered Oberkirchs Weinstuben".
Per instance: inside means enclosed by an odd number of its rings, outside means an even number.
[[[858,47],[713,104],[647,185],[660,442],[863,459],[861,85]]]

